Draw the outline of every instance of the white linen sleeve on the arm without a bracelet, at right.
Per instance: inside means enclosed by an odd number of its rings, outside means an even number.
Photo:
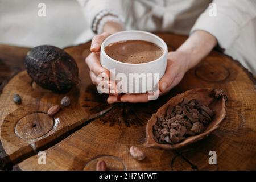
[[[196,30],[207,31],[216,37],[221,48],[226,49],[238,38],[241,28],[255,16],[255,0],[214,0],[199,16],[191,34]]]

